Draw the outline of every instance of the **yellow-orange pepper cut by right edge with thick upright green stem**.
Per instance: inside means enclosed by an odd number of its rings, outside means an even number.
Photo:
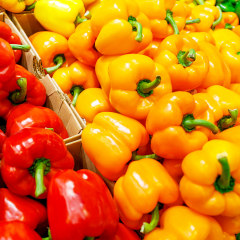
[[[206,215],[240,215],[239,159],[238,145],[218,139],[188,154],[182,162],[180,181],[184,202]]]

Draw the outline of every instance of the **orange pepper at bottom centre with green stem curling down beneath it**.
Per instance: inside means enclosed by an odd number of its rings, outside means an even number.
[[[144,215],[155,210],[158,215],[158,202],[168,204],[178,198],[178,185],[158,161],[150,158],[133,161],[127,172],[114,185],[114,199],[120,219],[131,228],[140,229]],[[158,224],[144,223],[141,232],[148,233]],[[134,223],[134,224],[133,224]]]

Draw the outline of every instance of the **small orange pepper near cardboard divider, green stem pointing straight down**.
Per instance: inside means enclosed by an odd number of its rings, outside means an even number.
[[[53,79],[65,93],[73,96],[72,104],[75,107],[79,94],[87,88],[99,87],[94,68],[79,61],[68,68],[60,68],[53,74]]]

